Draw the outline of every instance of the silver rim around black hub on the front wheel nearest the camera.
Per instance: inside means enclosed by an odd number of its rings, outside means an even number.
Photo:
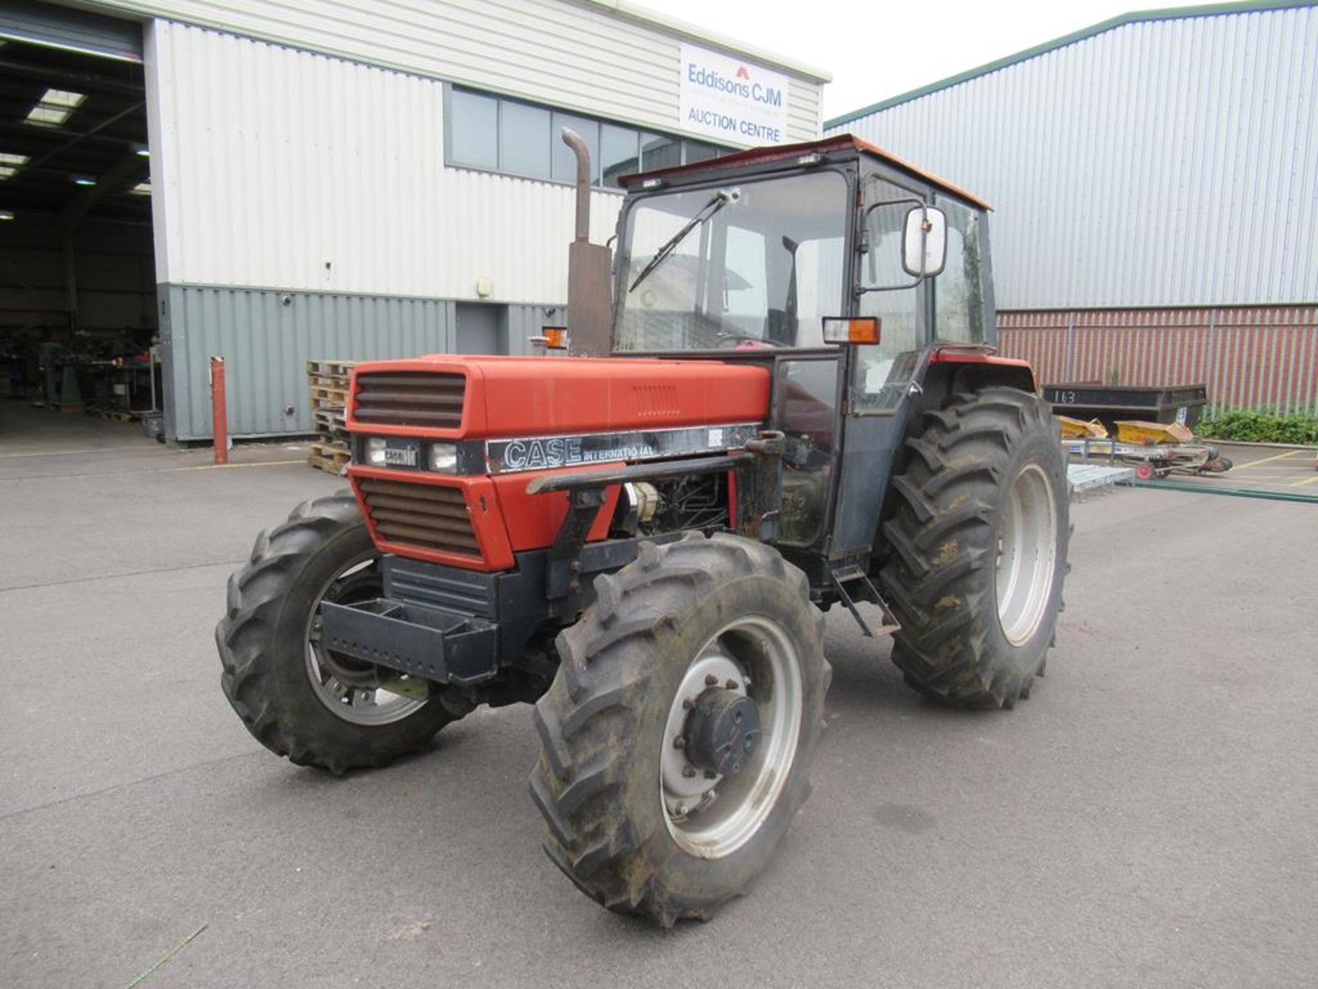
[[[755,702],[759,742],[735,775],[696,770],[676,740],[689,708],[683,702],[709,679]],[[673,841],[699,858],[721,858],[750,841],[768,819],[796,757],[801,729],[801,673],[783,628],[763,616],[738,618],[696,653],[668,711],[659,758],[664,822]]]

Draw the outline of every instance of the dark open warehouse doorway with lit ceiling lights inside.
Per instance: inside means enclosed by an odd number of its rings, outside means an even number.
[[[7,8],[0,444],[76,434],[95,446],[133,419],[158,423],[163,407],[142,30],[49,4]]]

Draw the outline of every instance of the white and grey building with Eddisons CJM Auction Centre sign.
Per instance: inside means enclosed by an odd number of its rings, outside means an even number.
[[[561,322],[560,127],[604,243],[621,174],[816,138],[826,80],[625,0],[8,0],[0,385],[195,440],[220,355],[232,434],[311,433],[307,360]]]

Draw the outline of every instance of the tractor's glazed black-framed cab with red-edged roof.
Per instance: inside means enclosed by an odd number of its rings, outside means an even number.
[[[612,327],[584,327],[608,349],[580,349],[770,368],[776,542],[822,585],[863,568],[923,404],[905,400],[946,393],[946,365],[965,377],[996,343],[988,204],[850,136],[622,185]],[[995,363],[1033,390],[1028,367]]]

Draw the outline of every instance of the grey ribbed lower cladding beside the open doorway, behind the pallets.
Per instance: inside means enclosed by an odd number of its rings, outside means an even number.
[[[208,359],[225,360],[229,433],[315,431],[308,360],[414,357],[452,349],[453,303],[161,285],[166,429],[211,435]],[[285,414],[287,406],[293,414]]]

